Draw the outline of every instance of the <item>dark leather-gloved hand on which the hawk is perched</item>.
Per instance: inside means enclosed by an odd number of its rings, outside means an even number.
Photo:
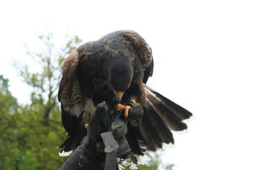
[[[143,109],[134,107],[129,111],[129,114],[128,118],[124,120],[119,118],[119,116],[123,115],[122,111],[110,114],[105,102],[97,105],[94,116],[91,117],[90,124],[87,127],[87,135],[60,169],[103,170],[106,161],[106,153],[104,152],[104,150],[106,151],[106,144],[103,144],[101,134],[108,131],[119,145],[117,156],[125,158],[131,150],[125,139],[125,133],[127,132],[126,121],[131,122],[143,116]],[[113,140],[112,142],[114,143],[115,141]],[[109,144],[111,145],[112,142]]]

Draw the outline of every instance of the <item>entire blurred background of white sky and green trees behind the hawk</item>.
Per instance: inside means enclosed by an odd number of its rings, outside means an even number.
[[[123,29],[153,49],[148,85],[194,114],[174,145],[138,168],[256,169],[255,8],[248,0],[2,1],[0,169],[61,167],[61,63]]]

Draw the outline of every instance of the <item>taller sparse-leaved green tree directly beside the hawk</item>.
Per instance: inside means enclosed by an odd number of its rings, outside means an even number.
[[[55,47],[51,32],[39,36],[39,40],[43,42],[44,51],[28,51],[36,61],[38,71],[30,71],[29,65],[20,68],[20,76],[32,89],[31,105],[26,105],[22,110],[26,120],[20,122],[20,131],[23,133],[21,140],[26,150],[29,150],[23,161],[31,161],[30,156],[33,156],[38,162],[37,169],[58,169],[67,159],[58,156],[59,150],[56,149],[66,134],[57,101],[61,63],[67,54],[78,47],[81,40],[76,36],[69,37],[62,48]]]

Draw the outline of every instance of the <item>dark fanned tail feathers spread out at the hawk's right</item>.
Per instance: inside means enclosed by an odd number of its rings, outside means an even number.
[[[146,146],[147,150],[154,151],[161,148],[163,143],[174,144],[171,129],[181,131],[188,128],[183,120],[192,116],[192,113],[147,85],[144,85],[144,89],[147,100],[143,105],[143,118],[139,127],[133,127],[133,135],[136,135],[141,149]]]

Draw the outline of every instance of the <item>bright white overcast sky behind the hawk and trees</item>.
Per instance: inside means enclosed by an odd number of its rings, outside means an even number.
[[[195,115],[164,161],[174,170],[255,170],[255,8],[247,0],[1,1],[0,74],[26,102],[10,63],[26,61],[23,44],[38,48],[45,26],[60,41],[68,30],[84,42],[137,31],[153,49],[149,85]]]

